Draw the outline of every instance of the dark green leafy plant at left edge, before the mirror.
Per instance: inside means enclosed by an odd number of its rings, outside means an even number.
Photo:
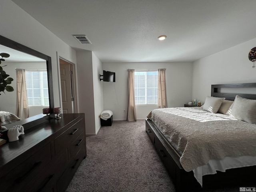
[[[10,55],[8,53],[0,53],[0,56],[1,56],[0,64],[2,63],[2,61],[5,61],[3,58],[10,57]],[[2,66],[0,66],[0,92],[4,92],[4,90],[6,90],[8,92],[14,91],[13,87],[10,86],[10,84],[13,81],[13,78],[11,78],[9,76],[10,75],[6,74],[6,72],[3,70]]]

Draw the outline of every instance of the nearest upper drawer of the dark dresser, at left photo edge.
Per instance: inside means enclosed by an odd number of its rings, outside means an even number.
[[[0,179],[1,192],[18,191],[26,183],[33,180],[50,160],[50,144],[47,144]]]

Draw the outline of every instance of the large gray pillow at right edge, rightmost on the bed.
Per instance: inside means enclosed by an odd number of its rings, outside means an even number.
[[[248,122],[256,123],[256,100],[236,96],[231,111],[231,117]]]

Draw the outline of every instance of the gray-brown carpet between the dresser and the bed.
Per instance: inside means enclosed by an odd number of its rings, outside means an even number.
[[[175,192],[145,131],[145,120],[114,121],[86,137],[87,157],[66,192]],[[239,192],[239,188],[207,190]]]

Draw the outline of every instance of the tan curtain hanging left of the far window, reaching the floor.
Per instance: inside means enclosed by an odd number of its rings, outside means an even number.
[[[128,69],[128,109],[127,121],[137,121],[134,92],[134,69]]]

